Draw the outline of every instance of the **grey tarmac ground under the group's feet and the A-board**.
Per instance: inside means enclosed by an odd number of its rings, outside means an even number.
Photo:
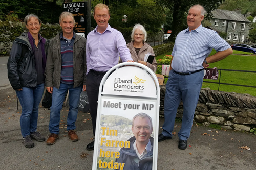
[[[22,109],[19,105],[16,110],[15,92],[8,88],[0,90],[0,94],[0,169],[91,169],[93,151],[86,151],[86,145],[93,138],[89,114],[78,113],[76,125],[79,141],[71,142],[65,129],[68,108],[63,107],[63,124],[56,143],[48,146],[46,142],[35,141],[35,147],[27,149],[21,142],[19,117]],[[40,107],[38,130],[45,136],[49,135],[49,116],[50,111]],[[84,123],[85,119],[89,120]],[[160,118],[160,127],[163,121]],[[180,126],[181,123],[176,123],[176,134]],[[207,135],[202,135],[204,133]],[[178,140],[178,136],[174,135],[172,140],[159,142],[158,170],[255,169],[256,135],[194,125],[186,150],[178,149]],[[240,149],[242,146],[248,146],[251,150]],[[82,159],[84,153],[88,155]]]

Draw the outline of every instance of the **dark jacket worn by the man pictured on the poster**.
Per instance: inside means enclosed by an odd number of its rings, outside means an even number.
[[[116,159],[118,163],[125,163],[123,170],[152,170],[153,165],[153,148],[142,159],[139,160],[134,148],[133,143],[136,138],[131,137],[128,141],[131,142],[130,148],[121,148],[119,153],[120,157]],[[153,147],[154,138],[150,137],[150,142]]]

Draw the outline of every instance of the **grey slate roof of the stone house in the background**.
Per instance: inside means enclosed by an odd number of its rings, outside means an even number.
[[[226,19],[240,22],[251,22],[247,18],[245,18],[242,14],[238,14],[236,11],[228,11],[217,9],[212,11],[212,18],[214,19]]]

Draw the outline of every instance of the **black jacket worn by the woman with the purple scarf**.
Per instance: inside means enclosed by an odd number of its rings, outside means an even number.
[[[48,42],[45,43],[47,56]],[[35,57],[28,40],[28,33],[22,33],[12,45],[10,57],[7,63],[8,78],[14,90],[22,87],[36,87],[37,72]]]

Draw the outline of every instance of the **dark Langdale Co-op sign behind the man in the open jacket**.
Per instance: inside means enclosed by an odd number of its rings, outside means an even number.
[[[87,2],[63,3],[63,11],[73,14],[75,18],[74,31],[78,35],[87,36]]]

